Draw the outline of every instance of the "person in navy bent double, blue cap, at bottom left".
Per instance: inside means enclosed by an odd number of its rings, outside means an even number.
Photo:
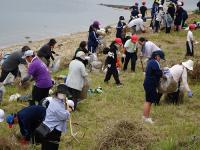
[[[46,114],[46,108],[42,106],[29,106],[25,107],[15,114],[10,114],[6,117],[6,121],[9,128],[12,128],[13,124],[19,124],[22,138],[21,144],[27,144],[30,140],[35,140],[34,130],[44,120]]]

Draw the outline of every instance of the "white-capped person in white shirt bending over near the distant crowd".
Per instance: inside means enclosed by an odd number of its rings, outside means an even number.
[[[128,27],[131,28],[132,34],[136,32],[145,32],[144,21],[142,19],[142,14],[138,14],[139,18],[133,19],[128,23]]]

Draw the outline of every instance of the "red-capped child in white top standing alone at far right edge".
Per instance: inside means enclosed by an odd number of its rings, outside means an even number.
[[[194,30],[194,29],[195,29],[195,25],[190,24],[189,25],[189,31],[187,33],[186,56],[194,56],[194,47],[193,47],[194,37],[193,37],[193,33],[192,33],[192,30]]]

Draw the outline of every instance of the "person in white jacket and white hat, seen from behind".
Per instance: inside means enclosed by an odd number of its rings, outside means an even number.
[[[84,82],[87,78],[88,73],[84,65],[85,53],[79,51],[76,54],[74,60],[69,64],[69,73],[67,75],[66,85],[70,94],[72,95],[72,100],[75,104],[75,109],[80,98],[81,91],[84,86]]]

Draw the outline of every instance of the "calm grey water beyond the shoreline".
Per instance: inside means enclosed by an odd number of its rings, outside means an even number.
[[[148,1],[151,6],[152,1]],[[185,0],[195,9],[198,0]],[[99,3],[131,5],[133,0],[0,0],[0,47],[69,33],[86,31],[93,20],[102,26],[116,23],[129,11],[99,6]],[[139,1],[138,1],[139,2]]]

